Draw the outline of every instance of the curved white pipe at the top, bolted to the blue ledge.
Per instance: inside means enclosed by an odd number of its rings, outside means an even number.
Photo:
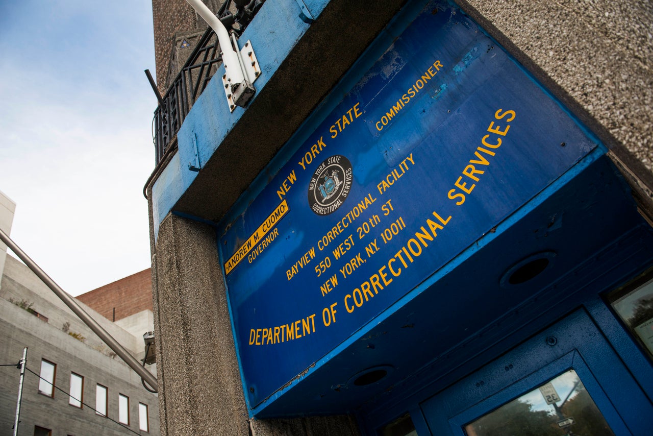
[[[222,51],[222,62],[225,64],[227,82],[231,83],[232,99],[237,106],[245,107],[255,90],[251,82],[247,80],[246,73],[240,67],[242,61],[240,55],[236,53],[231,45],[231,41],[229,41],[227,27],[201,0],[186,1],[204,18],[204,21],[211,26],[215,35],[217,35],[217,41],[220,43],[220,50]]]

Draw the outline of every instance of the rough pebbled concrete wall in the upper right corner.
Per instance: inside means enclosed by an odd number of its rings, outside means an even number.
[[[653,194],[650,1],[459,0],[610,148],[643,207]]]

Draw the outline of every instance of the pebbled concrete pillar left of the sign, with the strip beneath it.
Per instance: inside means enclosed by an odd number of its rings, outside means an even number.
[[[155,258],[161,432],[355,436],[351,416],[249,420],[212,227],[170,215]],[[174,340],[172,340],[174,338]]]

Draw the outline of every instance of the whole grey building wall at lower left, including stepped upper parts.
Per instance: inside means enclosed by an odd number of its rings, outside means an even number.
[[[27,369],[37,375],[40,361],[55,363],[54,398],[39,394],[39,378],[27,371],[23,389],[19,435],[32,435],[34,426],[51,429],[53,435],[124,435],[125,429],[103,416],[95,407],[96,384],[108,388],[108,417],[118,420],[118,394],[129,397],[129,428],[139,433],[138,403],[148,405],[150,433],[159,434],[159,408],[156,394],[147,392],[136,375],[106,345],[95,337],[69,310],[50,301],[50,290],[37,286],[38,278],[18,260],[7,256],[7,268],[0,293],[1,363],[18,363],[27,347]],[[56,298],[56,297],[55,297]],[[10,299],[12,301],[10,301]],[[39,318],[16,303],[35,310]],[[62,303],[63,304],[63,303]],[[127,333],[115,324],[84,307],[93,318],[137,357],[144,354],[142,339]],[[73,336],[74,335],[74,336]],[[84,377],[82,409],[69,405],[71,372]],[[12,434],[16,411],[18,379],[16,367],[0,368],[0,435]]]

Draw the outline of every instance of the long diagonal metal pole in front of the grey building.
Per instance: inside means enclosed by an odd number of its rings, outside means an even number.
[[[14,241],[8,237],[7,233],[5,233],[2,229],[0,229],[0,240],[3,241],[3,243],[7,244],[7,246],[20,258],[20,260],[25,262],[25,265],[29,267],[39,277],[42,282],[44,282],[52,292],[54,292],[65,305],[67,305],[74,314],[80,317],[80,319],[86,324],[93,332],[95,332],[96,335],[100,337],[104,341],[105,344],[109,346],[120,358],[129,365],[131,369],[136,371],[138,375],[140,375],[141,378],[143,378],[148,384],[154,389],[158,390],[158,385],[157,385],[157,379],[144,367],[140,365],[138,360],[120,344],[112,335],[110,335],[100,324],[98,324],[97,321],[95,321],[91,316],[86,313],[84,309],[77,303],[77,301],[68,295],[63,289],[59,287],[58,284],[50,278],[42,269],[40,269],[39,265],[37,265],[33,260],[25,254],[23,250],[20,249]]]

